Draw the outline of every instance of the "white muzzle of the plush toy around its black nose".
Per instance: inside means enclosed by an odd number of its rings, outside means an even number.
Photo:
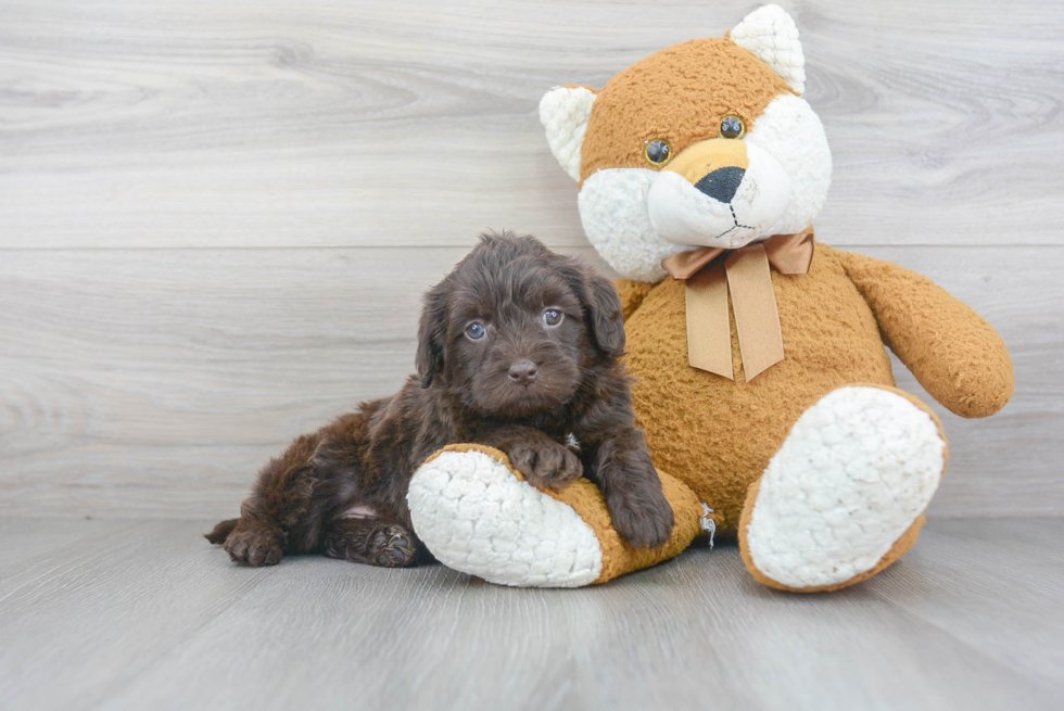
[[[668,168],[661,170],[647,199],[654,230],[670,242],[725,249],[744,246],[767,234],[790,201],[790,178],[759,145],[747,143],[746,152],[749,165],[729,203],[710,198]]]

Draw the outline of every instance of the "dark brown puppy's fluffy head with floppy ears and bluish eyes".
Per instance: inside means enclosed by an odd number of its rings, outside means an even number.
[[[532,238],[487,236],[426,299],[423,386],[465,407],[529,417],[568,403],[597,363],[624,348],[612,284]]]

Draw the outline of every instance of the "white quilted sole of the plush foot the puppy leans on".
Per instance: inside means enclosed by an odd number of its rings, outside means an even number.
[[[506,455],[452,447],[415,472],[414,530],[435,558],[502,585],[580,587],[603,570],[595,532],[567,504],[521,481]]]

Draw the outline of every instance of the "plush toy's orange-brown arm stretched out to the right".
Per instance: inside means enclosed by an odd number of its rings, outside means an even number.
[[[962,417],[1004,407],[1015,381],[993,327],[926,277],[861,254],[837,254],[872,307],[884,342],[932,397]]]

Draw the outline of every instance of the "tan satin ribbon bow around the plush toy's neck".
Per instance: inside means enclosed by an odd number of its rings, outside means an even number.
[[[746,381],[783,360],[783,331],[770,265],[780,274],[807,274],[813,247],[813,229],[809,227],[738,250],[701,246],[662,259],[661,267],[673,279],[685,282],[687,361],[734,380],[729,292]],[[726,257],[718,259],[725,253]]]

